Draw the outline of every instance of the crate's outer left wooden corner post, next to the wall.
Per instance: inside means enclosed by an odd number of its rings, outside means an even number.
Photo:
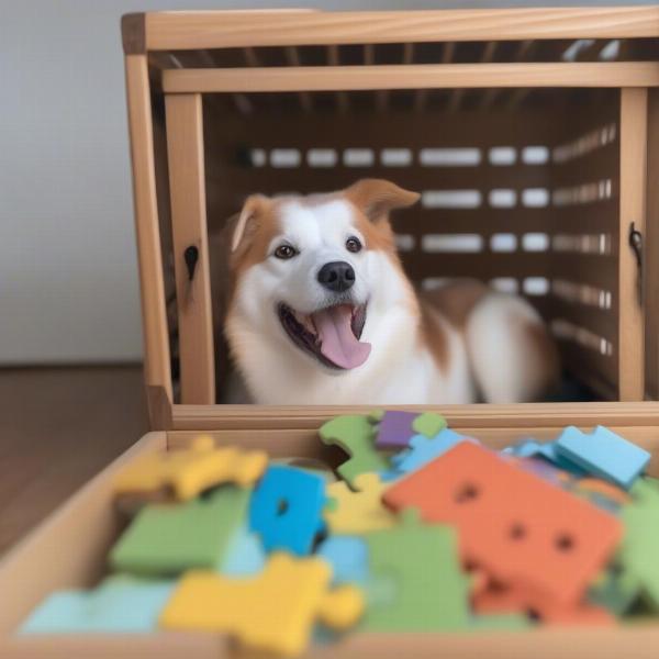
[[[149,418],[152,427],[156,428],[161,425],[163,405],[171,405],[172,395],[146,57],[126,55],[125,70],[144,333],[144,379]]]

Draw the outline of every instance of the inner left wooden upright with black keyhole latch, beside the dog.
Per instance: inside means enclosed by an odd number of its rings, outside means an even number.
[[[167,94],[165,111],[179,320],[181,403],[213,404],[215,368],[201,94]],[[185,257],[190,247],[198,250],[192,279]]]

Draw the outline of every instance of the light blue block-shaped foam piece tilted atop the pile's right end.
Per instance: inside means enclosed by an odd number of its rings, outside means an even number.
[[[568,426],[556,440],[559,455],[589,473],[628,490],[650,461],[650,454],[619,435],[597,426],[587,435]]]

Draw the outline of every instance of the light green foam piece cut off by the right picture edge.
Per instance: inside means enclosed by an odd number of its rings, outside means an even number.
[[[621,511],[625,537],[617,560],[626,578],[637,580],[644,599],[659,611],[659,489],[641,478],[630,494],[633,503]]]

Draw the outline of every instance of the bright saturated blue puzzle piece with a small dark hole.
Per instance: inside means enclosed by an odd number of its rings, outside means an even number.
[[[322,477],[273,465],[252,496],[249,529],[260,536],[267,551],[288,549],[304,556],[325,528],[325,503]]]

